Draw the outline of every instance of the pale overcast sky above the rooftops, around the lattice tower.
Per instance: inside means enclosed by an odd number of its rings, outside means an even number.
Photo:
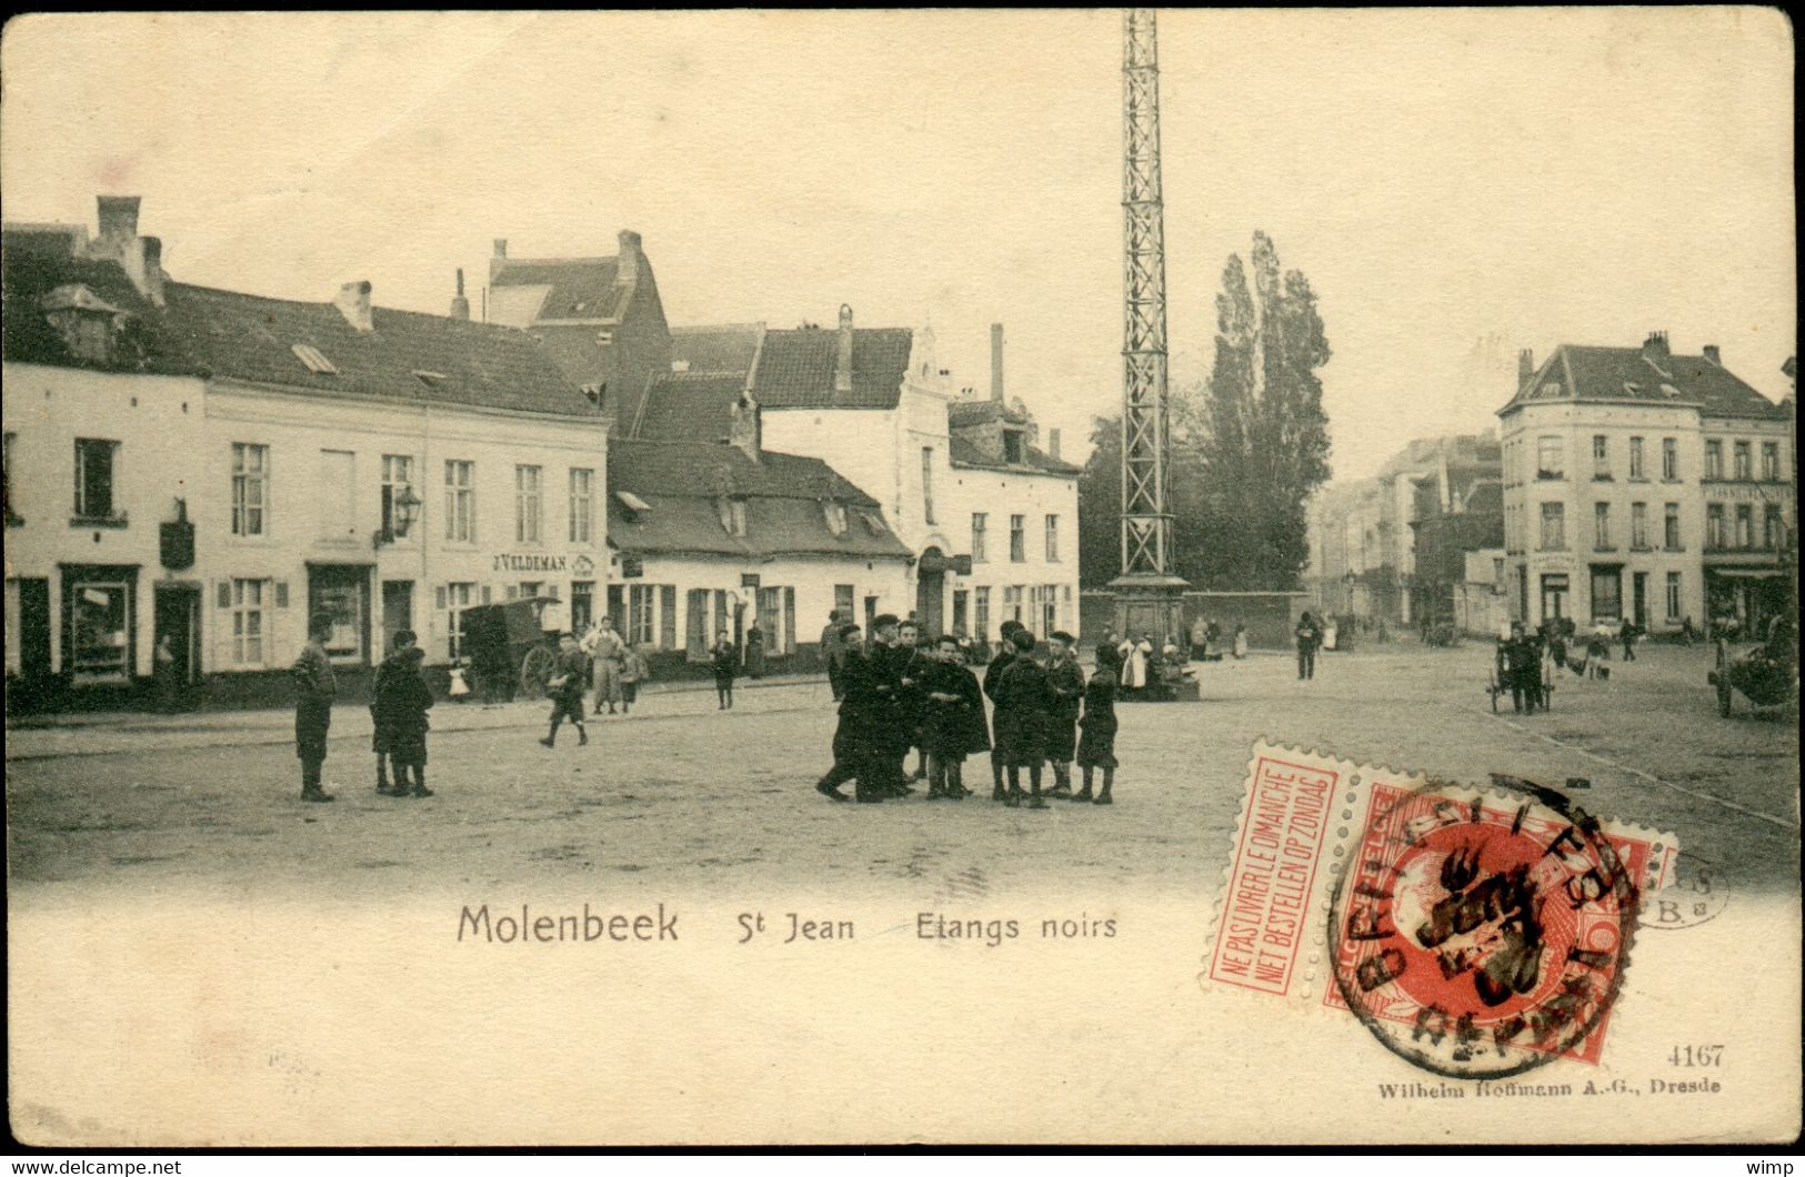
[[[1175,379],[1254,229],[1334,359],[1336,477],[1493,428],[1516,350],[1794,352],[1792,45],[1765,9],[1161,14]],[[931,321],[1078,442],[1121,395],[1121,14],[31,16],[7,220],[144,197],[182,282],[442,312],[489,242],[637,229],[673,323]],[[1079,446],[1069,446],[1079,449]]]

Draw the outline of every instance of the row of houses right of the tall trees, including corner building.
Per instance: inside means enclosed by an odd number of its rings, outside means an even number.
[[[1792,610],[1796,404],[1717,347],[1560,345],[1518,361],[1502,437],[1412,442],[1312,504],[1310,588],[1338,614],[1489,634],[1630,621],[1644,632]]]

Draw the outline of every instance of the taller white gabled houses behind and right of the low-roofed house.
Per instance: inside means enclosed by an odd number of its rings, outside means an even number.
[[[671,375],[623,433],[726,437],[749,395],[767,449],[827,462],[877,500],[912,554],[904,601],[881,610],[984,637],[1011,617],[1040,635],[1078,628],[1079,469],[1058,459],[1056,435],[1040,449],[1027,408],[1004,399],[1000,327],[987,399],[955,395],[930,330],[854,327],[850,307],[834,330],[691,327],[671,341]],[[866,605],[854,616],[868,619]]]

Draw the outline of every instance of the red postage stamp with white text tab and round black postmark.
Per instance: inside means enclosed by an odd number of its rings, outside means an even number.
[[[1597,1063],[1671,836],[1556,789],[1258,746],[1206,977],[1352,1013],[1458,1078]]]

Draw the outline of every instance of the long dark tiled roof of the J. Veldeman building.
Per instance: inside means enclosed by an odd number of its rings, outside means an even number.
[[[70,365],[61,338],[36,312],[52,289],[79,283],[132,312],[132,347],[114,366],[280,385],[298,392],[596,417],[531,336],[413,310],[372,310],[357,332],[332,303],[260,298],[180,282],[152,307],[114,262],[43,253],[5,262],[5,356]],[[334,372],[312,370],[296,347]],[[92,365],[87,365],[92,366]]]

